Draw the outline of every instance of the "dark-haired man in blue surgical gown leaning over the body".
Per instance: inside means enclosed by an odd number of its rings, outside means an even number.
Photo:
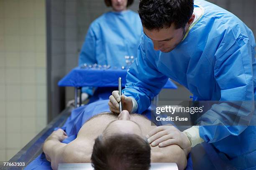
[[[248,113],[254,113],[256,44],[241,20],[204,0],[141,0],[139,15],[144,34],[138,58],[128,70],[121,96],[123,109],[143,112],[171,78],[189,89],[196,100],[252,101]],[[119,101],[118,91],[113,91],[112,112],[119,112]],[[154,129],[148,142],[182,148],[212,143],[238,169],[256,168],[255,114],[236,112],[246,121],[243,126],[230,126],[223,121],[231,125],[233,121],[225,108],[225,104],[214,105],[203,115],[208,117],[202,116],[198,126],[184,132],[174,127]],[[218,126],[206,126],[215,123]]]

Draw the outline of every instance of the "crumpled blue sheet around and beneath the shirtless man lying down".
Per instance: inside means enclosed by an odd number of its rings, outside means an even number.
[[[63,143],[69,143],[74,140],[77,137],[77,133],[84,122],[101,112],[110,112],[108,108],[108,100],[95,101],[91,104],[74,109],[71,113],[71,116],[67,119],[66,123],[61,128],[64,129],[68,135],[68,138],[65,139]],[[148,119],[151,119],[150,110],[146,111],[144,115],[148,117]],[[189,154],[186,170],[192,169],[192,159],[191,155]],[[51,163],[46,160],[44,153],[42,153],[35,160],[33,160],[25,168],[25,170],[51,170]]]

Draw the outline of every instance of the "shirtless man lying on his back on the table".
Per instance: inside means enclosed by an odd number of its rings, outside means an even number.
[[[105,112],[85,122],[69,144],[61,143],[67,138],[62,129],[54,131],[43,150],[53,170],[59,163],[88,162],[95,170],[148,170],[150,162],[175,162],[183,170],[189,151],[178,145],[150,146],[145,136],[154,128],[141,114]]]

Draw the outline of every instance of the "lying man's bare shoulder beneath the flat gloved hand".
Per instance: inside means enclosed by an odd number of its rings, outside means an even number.
[[[187,166],[187,155],[179,145],[151,147],[151,162],[174,162],[179,170]]]

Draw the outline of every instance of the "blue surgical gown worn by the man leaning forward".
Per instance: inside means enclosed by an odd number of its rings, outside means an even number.
[[[173,51],[155,51],[152,41],[142,35],[138,58],[128,70],[123,90],[123,94],[138,102],[138,113],[148,108],[168,78],[189,89],[197,100],[254,103],[256,44],[252,31],[235,15],[216,5],[195,0],[194,6],[201,6],[205,12]],[[219,111],[215,108],[209,112]],[[254,114],[248,123],[255,125],[255,120]],[[202,119],[201,123],[212,122],[222,120],[212,117]],[[256,167],[255,126],[222,124],[200,126],[199,131],[200,137],[212,143],[236,167]]]

